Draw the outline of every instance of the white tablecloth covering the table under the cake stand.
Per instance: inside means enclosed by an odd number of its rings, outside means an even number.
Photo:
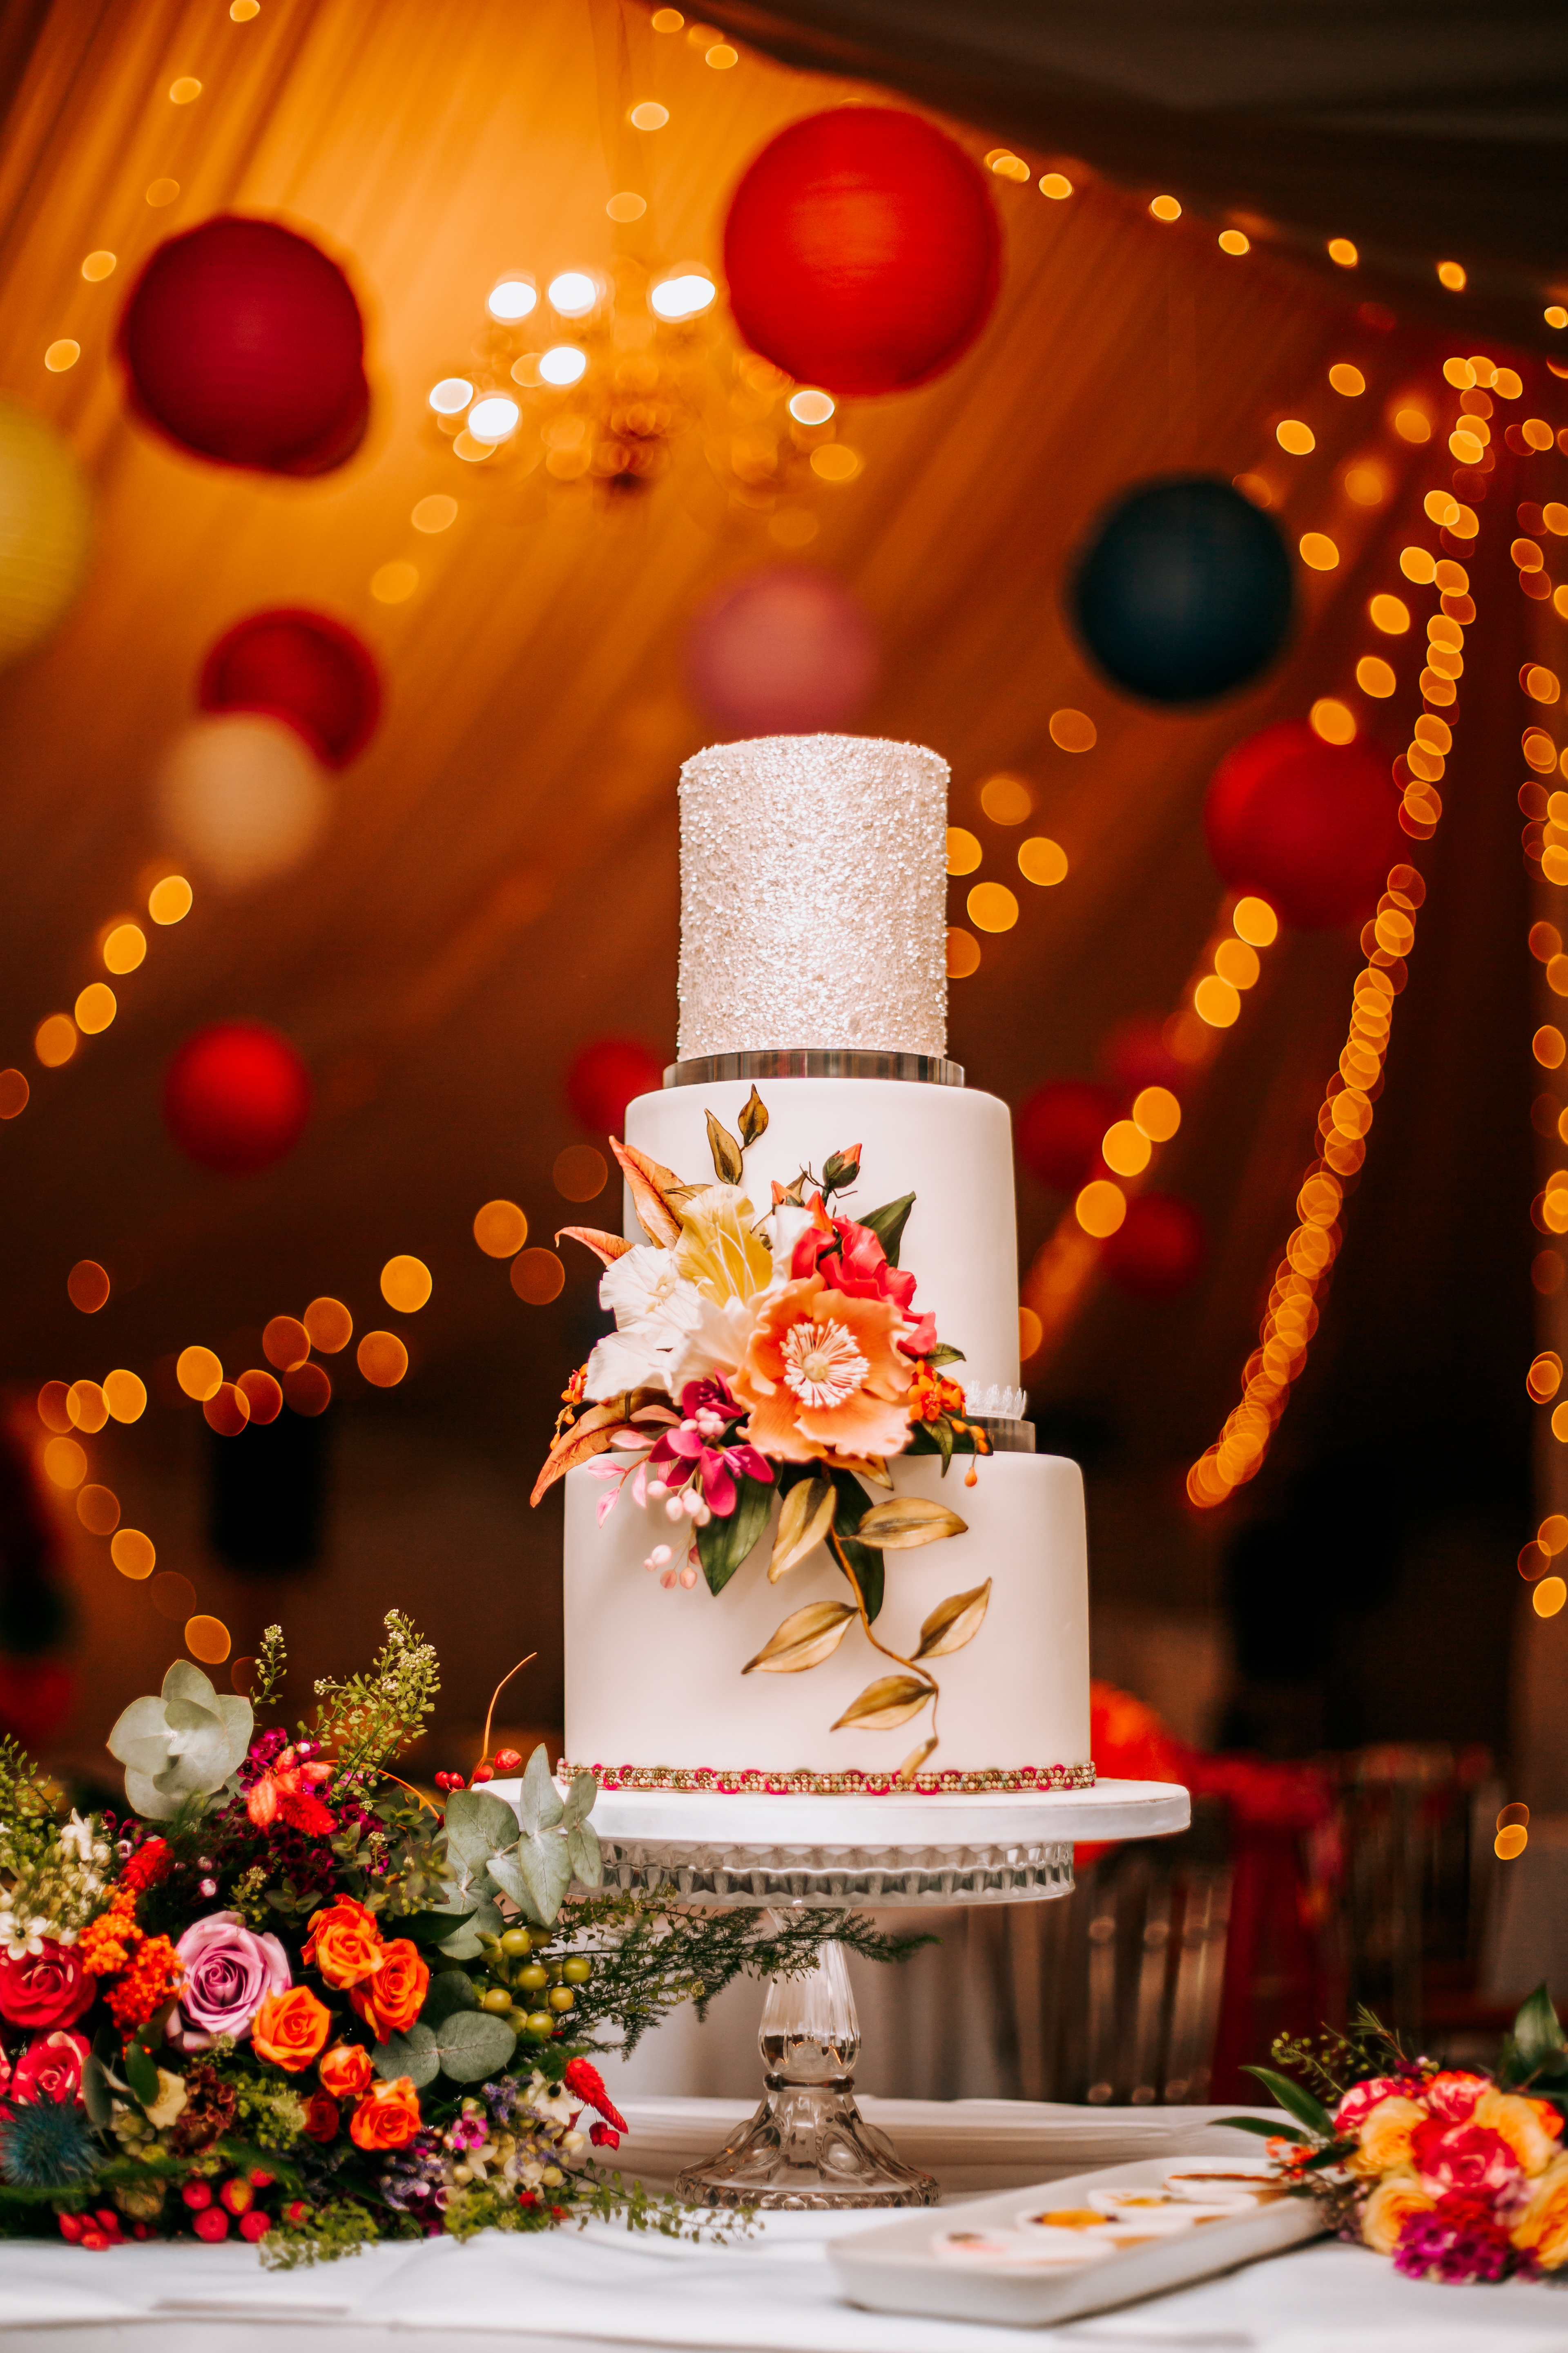
[[[679,2139],[712,2146],[719,2104],[651,2101],[632,2115],[658,2179]],[[870,2104],[867,2104],[870,2106]],[[940,2148],[926,2104],[882,2101],[877,2122],[926,2162]],[[931,2104],[936,2106],[936,2104]],[[693,2113],[693,2111],[708,2113]],[[1009,2146],[1004,2179],[1058,2177],[1084,2162],[1084,2134],[1105,2160],[1204,2139],[1180,2111],[1009,2111],[961,2101],[950,2144],[980,2172],[980,2144]],[[684,2113],[670,2113],[684,2111]],[[903,2111],[903,2113],[900,2113]],[[717,2132],[708,2129],[719,2127]],[[1065,2129],[1063,2129],[1065,2127]],[[651,2144],[658,2144],[654,2148]],[[966,2144],[966,2146],[961,2146]],[[1016,2160],[1034,2151],[1034,2169]],[[1215,2146],[1213,2141],[1208,2146]],[[1237,2144],[1227,2144],[1237,2146]],[[1253,2144],[1255,2146],[1255,2144]],[[1060,2158],[1072,2148],[1072,2162]],[[1093,2160],[1091,2160],[1093,2162]],[[994,2181],[964,2181],[973,2193]],[[517,2353],[1009,2353],[1018,2332],[863,2313],[844,2301],[827,2242],[865,2214],[776,2214],[729,2247],[630,2238],[618,2228],[541,2238],[489,2233],[458,2247],[428,2240],[374,2247],[341,2264],[268,2273],[254,2249],[63,2242],[0,2247],[0,2353],[473,2353],[505,2339]],[[1072,2320],[1051,2344],[1081,2353],[1568,2353],[1568,2287],[1429,2287],[1382,2257],[1331,2242],[1293,2249],[1173,2297]]]

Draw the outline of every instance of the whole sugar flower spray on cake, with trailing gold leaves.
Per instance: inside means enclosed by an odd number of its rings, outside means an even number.
[[[964,1419],[964,1391],[945,1372],[961,1351],[938,1339],[898,1264],[914,1193],[842,1214],[860,1174],[860,1148],[849,1146],[820,1176],[806,1167],[790,1186],[773,1184],[759,1217],[745,1153],[766,1125],[755,1087],[736,1134],[708,1113],[712,1184],[682,1184],[611,1139],[649,1240],[562,1228],[604,1264],[599,1301],[616,1329],[564,1393],[534,1501],[592,1464],[604,1480],[599,1525],[630,1492],[654,1518],[644,1569],[665,1588],[691,1591],[701,1577],[710,1593],[764,1546],[778,1504],[769,1579],[825,1546],[849,1598],[795,1609],[741,1673],[820,1666],[858,1624],[893,1673],[877,1675],[835,1729],[891,1732],[931,1706],[926,1737],[900,1765],[907,1781],[938,1746],[940,1692],[926,1661],[973,1640],[990,1579],[943,1600],[912,1657],[889,1649],[875,1633],[884,1553],[959,1537],[966,1522],[922,1497],[875,1501],[867,1482],[891,1492],[891,1454],[940,1454],[945,1475],[954,1454],[987,1454],[990,1440]]]

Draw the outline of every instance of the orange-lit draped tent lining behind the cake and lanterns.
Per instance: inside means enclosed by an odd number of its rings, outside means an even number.
[[[900,21],[919,28],[914,14]],[[983,16],[964,21],[978,38]],[[470,1221],[494,1195],[524,1205],[534,1240],[583,1214],[550,1184],[557,1151],[581,1141],[567,1061],[602,1033],[672,1049],[675,779],[705,741],[682,689],[682,631],[703,595],[778,548],[755,515],[726,511],[698,445],[644,499],[611,508],[578,487],[545,494],[543,475],[458,466],[425,393],[465,365],[503,268],[543,280],[604,268],[618,249],[717,268],[748,158],[785,122],[875,92],[755,49],[710,71],[701,49],[614,0],[263,0],[240,26],[214,0],[59,0],[28,21],[31,45],[16,24],[0,388],[71,435],[96,485],[99,553],[59,638],[0,680],[0,1061],[33,1068],[33,1026],[94,976],[94,936],[158,871],[150,774],[219,631],[261,605],[322,605],[376,647],[388,711],[334,784],[313,861],[228,901],[200,889],[179,929],[153,934],[113,1031],[35,1073],[31,1108],[0,1132],[5,1374],[26,1391],[110,1365],[148,1372],[190,1341],[237,1369],[256,1362],[266,1318],[317,1292],[343,1297],[362,1329],[383,1320],[376,1271],[416,1252],[435,1297],[409,1325],[409,1381],[371,1393],[334,1360],[336,1534],[299,1595],[254,1591],[205,1551],[195,1409],[158,1405],[134,1431],[110,1428],[94,1475],[226,1617],[237,1649],[284,1609],[306,1661],[339,1666],[395,1600],[442,1645],[451,1706],[473,1718],[501,1666],[538,1645],[527,1706],[543,1722],[557,1704],[559,1513],[529,1518],[522,1497],[581,1353],[592,1268],[574,1261],[555,1308],[522,1306]],[[1143,52],[1150,73],[1154,54]],[[202,82],[197,104],[169,104],[176,75]],[[637,141],[625,113],[642,99],[663,101],[670,122]],[[994,127],[973,111],[954,125],[973,153],[1020,136],[997,104]],[[179,200],[155,212],[143,191],[158,176],[179,181]],[[625,186],[649,212],[618,231],[604,207]],[[1032,779],[1037,826],[1070,854],[1058,889],[1020,885],[1020,925],[987,939],[980,972],[952,991],[954,1056],[1018,1104],[1046,1078],[1093,1073],[1119,1019],[1178,1002],[1220,899],[1199,833],[1204,781],[1241,734],[1345,689],[1366,649],[1366,598],[1396,586],[1394,551],[1434,480],[1432,454],[1396,440],[1387,412],[1410,386],[1436,386],[1443,353],[1474,351],[1476,336],[1368,327],[1352,280],[1269,254],[1227,259],[1208,226],[1157,224],[1107,181],[1067,205],[997,181],[997,205],[1006,278],[992,325],[936,386],[846,405],[865,471],[816,494],[806,560],[846,579],[882,633],[886,671],[863,727],[952,762],[952,816],[985,838],[985,873],[1009,873],[1016,842],[978,812],[997,767]],[[374,419],[341,473],[226,473],[127,419],[110,360],[125,289],[160,238],[219,209],[303,228],[360,292]],[[80,261],[99,247],[118,271],[87,285]],[[66,374],[42,367],[56,336],[82,346]],[[1335,360],[1366,372],[1361,400],[1328,393]],[[1312,456],[1281,459],[1281,414],[1312,419]],[[1380,511],[1342,494],[1345,461],[1368,447],[1389,466]],[[1328,527],[1342,548],[1335,572],[1300,574],[1288,659],[1255,692],[1180,718],[1112,694],[1060,614],[1070,551],[1095,511],[1171,468],[1262,468],[1288,536]],[[1279,1511],[1291,1449],[1307,1468],[1333,1459],[1352,1417],[1356,1445],[1396,1464],[1406,1442],[1422,1461],[1486,1464],[1488,1574],[1512,1579],[1509,1546],[1526,1532],[1514,1518],[1528,1508],[1530,1085],[1505,755],[1521,628],[1505,473],[1483,518],[1472,633],[1472,664],[1502,680],[1493,732],[1462,729],[1443,831],[1422,854],[1432,899],[1319,1358],[1276,1464],[1222,1520]],[[421,539],[409,513],[437,489],[458,499],[458,520]],[[369,595],[390,560],[418,565],[416,593],[395,607]],[[1418,664],[1394,659],[1396,746]],[[1053,746],[1060,706],[1095,720],[1088,755]],[[1161,1165],[1211,1224],[1208,1275],[1171,1306],[1098,1294],[1039,1384],[1058,1419],[1093,1424],[1110,1464],[1093,1501],[1098,1600],[1215,1602],[1225,1527],[1187,1511],[1180,1480],[1255,1344],[1354,969],[1354,944],[1338,936],[1269,953]],[[277,1024],[317,1078],[299,1151],[244,1181],[190,1169],[158,1118],[172,1049],[221,1016]],[[1025,1264],[1058,1209],[1023,1179]],[[115,1275],[96,1320],[66,1301],[80,1257]],[[1389,1574],[1387,1631],[1403,1569]],[[1436,1574],[1429,1560],[1422,1574]],[[1472,1577],[1474,1553],[1450,1574]],[[167,1628],[101,1544],[78,1546],[73,1577],[87,1737],[158,1675]],[[1467,1631],[1455,1732],[1500,1734],[1512,1591]],[[1281,1621],[1281,1640],[1293,1635]],[[1387,1692],[1371,1668],[1363,1680]],[[1375,1708],[1366,1720],[1387,1722]]]

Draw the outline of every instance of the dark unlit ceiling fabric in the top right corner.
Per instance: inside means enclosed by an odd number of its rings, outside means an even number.
[[[1568,14],[1554,0],[719,0],[797,66],[860,73],[997,136],[1255,235],[1352,238],[1361,264],[1450,318],[1552,346],[1568,271]]]

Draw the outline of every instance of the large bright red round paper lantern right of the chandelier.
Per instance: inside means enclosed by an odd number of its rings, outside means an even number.
[[[752,351],[830,393],[905,393],[969,351],[1001,282],[985,174],[919,115],[835,106],[771,139],[724,224]]]

